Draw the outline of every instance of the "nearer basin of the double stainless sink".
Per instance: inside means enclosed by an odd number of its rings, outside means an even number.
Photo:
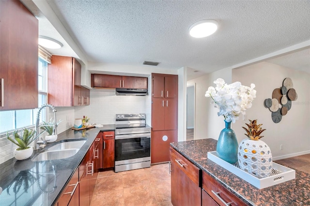
[[[79,149],[66,149],[66,150],[55,150],[55,151],[46,151],[38,154],[32,158],[33,162],[37,161],[47,161],[47,160],[60,160],[64,158],[72,157],[78,153]]]

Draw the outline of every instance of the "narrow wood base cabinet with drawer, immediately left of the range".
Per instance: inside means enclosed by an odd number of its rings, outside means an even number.
[[[115,132],[103,132],[103,167],[114,167],[115,155]]]

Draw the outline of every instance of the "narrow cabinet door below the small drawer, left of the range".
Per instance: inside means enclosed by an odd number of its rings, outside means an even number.
[[[103,140],[103,168],[114,167],[115,142],[114,139]]]

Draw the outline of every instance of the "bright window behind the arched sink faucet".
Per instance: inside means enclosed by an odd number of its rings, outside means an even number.
[[[47,103],[47,62],[41,58],[38,60],[38,107]],[[0,111],[0,134],[23,127],[31,127],[35,124],[39,109]],[[41,110],[40,121],[47,120],[47,109]]]

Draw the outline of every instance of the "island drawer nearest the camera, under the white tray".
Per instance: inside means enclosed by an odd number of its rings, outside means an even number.
[[[231,206],[246,206],[242,200],[220,185],[217,180],[209,176],[206,172],[202,172],[202,188],[220,206],[226,206],[225,203],[230,203]]]

